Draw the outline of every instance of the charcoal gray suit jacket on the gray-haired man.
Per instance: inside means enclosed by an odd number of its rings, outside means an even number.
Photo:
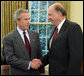
[[[42,70],[28,70],[29,62],[32,59],[42,57],[38,34],[30,30],[28,32],[31,45],[31,58],[17,29],[6,35],[3,40],[6,61],[10,64],[10,74],[12,75],[35,75],[39,71],[44,72],[43,68]]]

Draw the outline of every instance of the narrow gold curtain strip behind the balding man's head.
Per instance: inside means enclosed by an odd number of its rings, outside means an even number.
[[[70,1],[56,1],[56,2],[61,3],[64,6],[67,12],[67,19],[70,20]]]

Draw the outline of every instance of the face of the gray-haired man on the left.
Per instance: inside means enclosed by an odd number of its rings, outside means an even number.
[[[17,24],[19,25],[21,30],[27,30],[30,26],[30,15],[29,13],[21,13],[20,14],[21,19],[17,21]]]

